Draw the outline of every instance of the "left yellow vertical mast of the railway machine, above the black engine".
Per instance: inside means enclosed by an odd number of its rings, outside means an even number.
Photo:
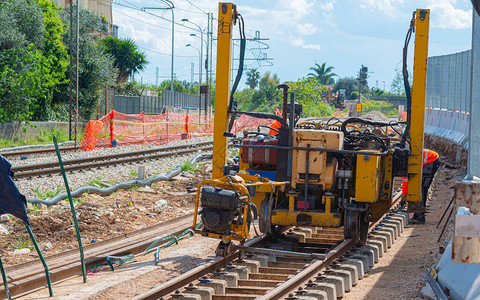
[[[223,176],[223,167],[227,163],[227,138],[223,134],[227,131],[227,109],[230,100],[230,65],[232,61],[234,11],[235,6],[233,4],[219,3],[212,161],[213,179]]]

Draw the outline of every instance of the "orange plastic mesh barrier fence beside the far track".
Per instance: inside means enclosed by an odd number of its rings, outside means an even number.
[[[127,115],[110,111],[99,120],[88,121],[81,147],[84,151],[111,147],[112,144],[162,145],[172,141],[213,135],[213,117],[165,113],[161,115]],[[271,119],[242,115],[235,120],[232,132],[270,126]],[[114,140],[116,141],[114,143]]]

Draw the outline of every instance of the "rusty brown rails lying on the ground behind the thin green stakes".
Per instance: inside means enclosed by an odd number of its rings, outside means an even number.
[[[142,253],[154,241],[171,235],[178,236],[191,228],[192,219],[193,214],[187,214],[123,236],[86,245],[83,247],[86,267],[105,263],[107,256]],[[159,242],[157,246],[170,240]],[[78,249],[51,255],[45,257],[45,260],[50,270],[52,283],[82,274]],[[8,289],[12,296],[22,296],[46,286],[45,273],[40,260],[14,265],[6,268],[5,271]],[[1,285],[0,298],[3,297],[6,295],[3,285]]]

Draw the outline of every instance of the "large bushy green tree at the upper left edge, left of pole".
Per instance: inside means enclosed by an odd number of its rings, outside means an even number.
[[[18,105],[0,122],[48,119],[53,90],[68,67],[57,11],[47,0],[0,3],[0,72],[10,74],[2,78],[0,102],[11,109]]]

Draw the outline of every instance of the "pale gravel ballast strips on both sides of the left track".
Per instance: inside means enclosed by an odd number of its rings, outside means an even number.
[[[185,145],[196,142],[212,141],[212,137],[203,137],[190,140],[174,141],[164,146]],[[121,146],[116,148],[98,149],[95,151],[84,152],[65,152],[62,153],[62,159],[75,159],[83,157],[94,157],[106,154],[121,153],[127,151],[135,151],[142,149],[149,149],[159,147],[157,145],[131,145]],[[95,168],[77,172],[67,173],[68,184],[71,190],[77,189],[83,186],[93,185],[101,182],[103,184],[112,185],[118,182],[125,182],[132,179],[137,179],[139,166],[145,167],[145,178],[163,175],[170,170],[173,170],[178,165],[185,164],[188,160],[199,154],[190,153],[187,155],[176,155],[172,152],[172,155],[158,160],[148,160],[133,162],[128,165],[112,165],[107,168]],[[20,160],[20,158],[13,158],[10,162],[13,166],[22,164],[36,164],[45,162],[56,162],[57,157],[55,154],[42,154],[29,156],[26,160]],[[49,176],[49,177],[35,177],[35,178],[21,178],[16,180],[16,184],[21,193],[27,198],[39,198],[49,199],[54,195],[65,192],[65,184],[61,175]]]

